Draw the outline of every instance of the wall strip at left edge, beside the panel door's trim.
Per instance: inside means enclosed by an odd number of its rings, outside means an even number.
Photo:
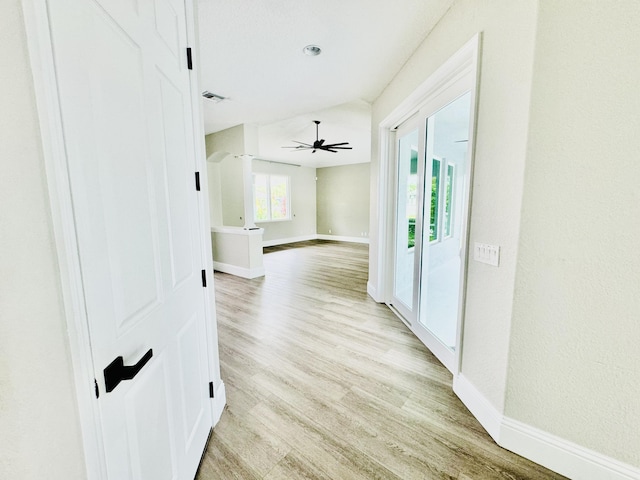
[[[0,15],[0,478],[86,477],[21,2]]]

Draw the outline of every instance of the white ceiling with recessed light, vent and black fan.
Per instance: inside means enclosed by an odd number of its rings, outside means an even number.
[[[199,0],[205,133],[258,124],[258,156],[307,166],[370,160],[370,107],[454,0]],[[308,57],[305,45],[322,54]],[[338,153],[292,140],[348,141]]]

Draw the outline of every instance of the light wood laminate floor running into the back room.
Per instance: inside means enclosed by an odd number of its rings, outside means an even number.
[[[227,408],[197,480],[564,478],[498,447],[367,295],[368,246],[301,242],[264,263],[215,274]]]

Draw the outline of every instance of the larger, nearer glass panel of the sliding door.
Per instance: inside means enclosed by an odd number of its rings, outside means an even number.
[[[426,121],[425,185],[431,192],[425,192],[424,196],[428,202],[424,211],[429,215],[429,229],[424,229],[421,239],[418,321],[432,337],[427,346],[445,364],[442,353],[439,355],[436,350],[444,350],[447,355],[447,350],[452,354],[456,349],[462,275],[460,255],[465,241],[463,222],[466,222],[463,206],[468,198],[465,172],[468,170],[470,98],[470,93],[459,97]],[[438,345],[434,347],[434,343]]]

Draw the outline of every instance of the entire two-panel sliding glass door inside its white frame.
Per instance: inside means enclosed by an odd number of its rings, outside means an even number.
[[[454,370],[469,202],[471,93],[420,110],[396,133],[392,306]]]

